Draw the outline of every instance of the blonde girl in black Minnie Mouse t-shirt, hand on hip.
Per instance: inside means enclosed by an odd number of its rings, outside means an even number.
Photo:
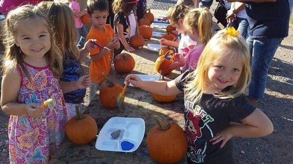
[[[229,28],[210,39],[196,70],[168,82],[130,74],[126,82],[162,95],[184,92],[188,164],[236,164],[232,137],[262,137],[273,130],[270,119],[244,94],[250,79],[247,43]]]

